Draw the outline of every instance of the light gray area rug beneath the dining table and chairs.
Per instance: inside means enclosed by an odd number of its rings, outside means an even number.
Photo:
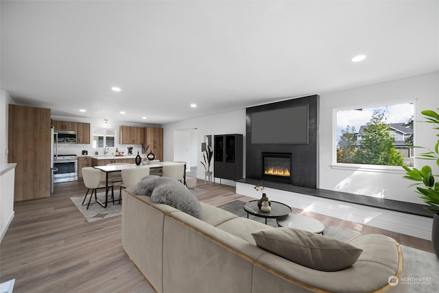
[[[204,194],[207,191],[204,189],[199,188],[189,188],[189,190],[194,194],[195,196],[198,196],[200,194]],[[123,191],[122,191],[123,192]],[[99,220],[104,220],[107,218],[117,217],[118,215],[121,215],[121,204],[119,204],[119,191],[115,190],[115,204],[112,204],[112,202],[108,202],[107,207],[104,208],[100,204],[98,204],[95,201],[95,196],[91,199],[90,207],[87,209],[88,199],[90,198],[90,194],[88,194],[86,201],[84,204],[82,204],[82,200],[84,200],[84,196],[77,196],[70,198],[73,204],[75,204],[75,207],[78,208],[78,210],[84,215],[84,218],[86,218],[87,222],[96,222]],[[99,192],[97,194],[97,199],[100,202],[105,202],[105,192]],[[111,200],[111,195],[108,195],[108,201]]]

